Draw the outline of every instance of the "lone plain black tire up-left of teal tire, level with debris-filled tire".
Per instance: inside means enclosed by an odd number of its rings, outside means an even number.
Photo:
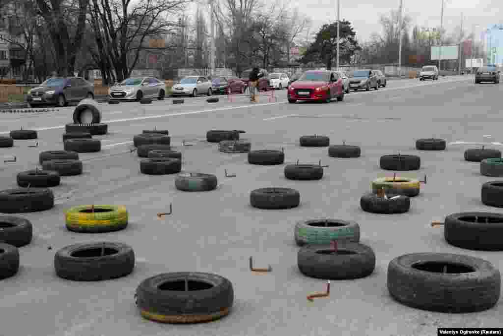
[[[260,188],[251,190],[250,204],[259,209],[291,209],[300,204],[300,193],[291,188]]]

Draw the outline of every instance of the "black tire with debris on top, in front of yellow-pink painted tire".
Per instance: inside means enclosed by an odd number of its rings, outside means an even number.
[[[389,194],[388,199],[374,193],[367,193],[360,198],[363,211],[373,214],[403,214],[410,209],[410,198],[405,195]],[[396,198],[393,198],[396,197]]]

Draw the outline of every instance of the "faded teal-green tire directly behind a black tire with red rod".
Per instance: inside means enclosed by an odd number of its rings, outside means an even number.
[[[355,221],[338,219],[316,219],[298,221],[294,239],[297,246],[330,244],[331,241],[360,241],[360,226]]]

